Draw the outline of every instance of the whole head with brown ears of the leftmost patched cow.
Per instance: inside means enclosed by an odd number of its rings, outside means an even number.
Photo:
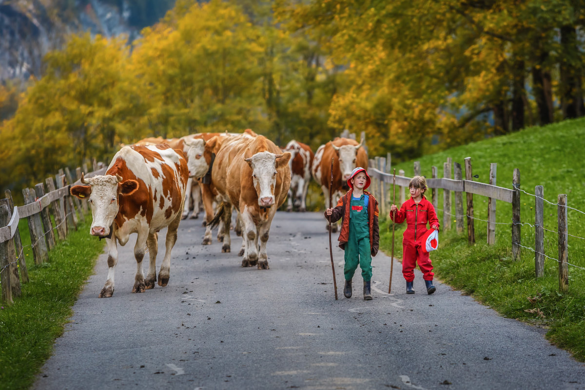
[[[110,227],[120,208],[118,196],[135,193],[138,182],[123,181],[122,176],[118,174],[94,176],[90,179],[84,179],[81,174],[81,183],[89,185],[73,186],[70,192],[71,195],[87,199],[90,203],[92,217],[90,234],[100,237],[109,235]]]

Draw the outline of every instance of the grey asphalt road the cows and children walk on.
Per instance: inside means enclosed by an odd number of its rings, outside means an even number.
[[[585,389],[584,365],[542,329],[445,284],[426,295],[419,271],[417,293],[406,295],[398,262],[388,295],[383,253],[373,259],[374,300],[363,301],[359,269],[344,298],[335,235],[336,301],[320,213],[277,213],[270,270],[242,268],[235,235],[221,253],[216,241],[200,245],[203,234],[200,219],[181,222],[169,284],[143,294],[130,292],[131,239],[119,247],[113,297],[98,299],[102,254],[33,388]]]

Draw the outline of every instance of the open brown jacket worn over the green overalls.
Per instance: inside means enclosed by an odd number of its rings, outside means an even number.
[[[367,215],[370,225],[370,250],[371,255],[376,256],[378,248],[380,246],[380,228],[378,227],[378,201],[368,191],[364,191],[364,194],[370,197],[367,206]],[[328,218],[331,222],[339,221],[339,218],[343,218],[341,221],[341,232],[339,233],[339,248],[345,250],[345,244],[349,240],[349,203],[351,200],[352,191],[348,191],[345,195],[339,198],[337,206],[333,208],[333,213],[325,218]],[[344,218],[347,215],[347,218]]]

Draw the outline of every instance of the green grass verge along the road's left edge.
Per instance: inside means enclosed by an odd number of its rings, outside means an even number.
[[[0,388],[29,388],[55,339],[63,334],[73,304],[104,248],[104,242],[88,234],[90,225],[91,215],[66,241],[57,243],[49,252],[49,262],[35,265],[27,222],[20,220],[30,281],[21,285],[22,296],[13,298],[13,304],[1,305]]]

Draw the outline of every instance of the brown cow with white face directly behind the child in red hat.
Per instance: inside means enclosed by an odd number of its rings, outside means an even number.
[[[321,145],[315,152],[315,159],[311,172],[317,183],[321,185],[325,196],[325,208],[333,207],[329,204],[329,182],[331,182],[331,159],[333,158],[333,185],[332,198],[336,204],[339,197],[349,187],[347,179],[352,175],[356,166],[366,168],[368,166],[367,152],[362,147],[363,140],[359,144],[351,138],[335,138],[333,141]],[[327,225],[329,228],[329,225]],[[332,231],[337,231],[337,224],[332,225]]]

